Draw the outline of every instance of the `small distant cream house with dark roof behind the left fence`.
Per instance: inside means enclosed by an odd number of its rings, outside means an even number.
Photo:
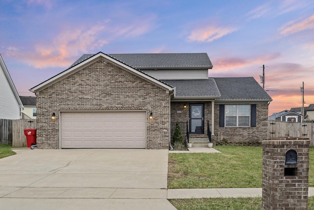
[[[20,96],[24,105],[21,108],[21,119],[36,119],[36,97],[34,96]]]

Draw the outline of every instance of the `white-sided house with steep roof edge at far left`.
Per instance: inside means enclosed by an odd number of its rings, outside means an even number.
[[[23,107],[23,104],[1,55],[0,90],[0,119],[20,119],[20,108]]]

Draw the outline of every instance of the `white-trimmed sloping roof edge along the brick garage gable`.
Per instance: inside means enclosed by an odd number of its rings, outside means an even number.
[[[167,84],[165,84],[165,83],[163,83],[163,82],[161,82],[161,81],[159,81],[159,80],[157,80],[157,79],[155,79],[155,78],[145,74],[144,72],[136,70],[136,69],[132,68],[130,65],[128,65],[126,63],[123,63],[123,62],[121,62],[119,60],[116,60],[116,59],[114,59],[114,58],[112,58],[112,57],[110,57],[110,56],[108,56],[108,55],[106,55],[106,54],[104,54],[102,52],[99,52],[98,54],[95,54],[95,55],[89,57],[88,59],[79,62],[78,64],[76,64],[76,65],[66,69],[65,71],[55,75],[54,77],[44,81],[43,83],[41,83],[41,84],[31,88],[30,91],[37,93],[38,91],[43,90],[43,89],[51,86],[52,84],[60,81],[61,79],[65,78],[65,77],[67,77],[67,76],[77,72],[78,70],[80,70],[80,69],[90,65],[91,63],[94,63],[94,62],[96,62],[98,60],[101,60],[101,59],[105,59],[108,62],[111,62],[114,65],[117,65],[120,68],[123,68],[124,70],[127,70],[127,71],[129,71],[129,72],[131,72],[131,73],[133,73],[133,74],[135,74],[135,75],[137,75],[137,76],[147,80],[147,81],[150,81],[150,82],[156,84],[159,87],[162,87],[162,88],[164,88],[166,90],[173,90],[173,88],[171,86],[169,86],[169,85],[167,85]]]

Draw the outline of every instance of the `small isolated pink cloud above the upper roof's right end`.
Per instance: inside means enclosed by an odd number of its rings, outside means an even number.
[[[188,36],[190,41],[212,42],[229,33],[234,32],[236,29],[231,27],[216,27],[207,26],[192,30]]]

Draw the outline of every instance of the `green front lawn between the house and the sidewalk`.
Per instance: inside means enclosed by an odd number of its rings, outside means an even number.
[[[215,149],[222,153],[170,153],[168,188],[262,187],[262,147]]]

